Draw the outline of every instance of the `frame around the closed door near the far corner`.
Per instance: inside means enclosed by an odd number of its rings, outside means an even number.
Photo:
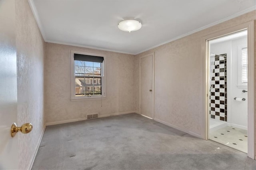
[[[150,118],[150,117],[148,117],[148,118],[154,120],[154,117],[155,117],[155,107],[154,107],[155,106],[155,83],[154,83],[155,82],[155,53],[154,52],[140,57],[140,62],[139,62],[139,92],[140,92],[139,93],[139,113],[140,113],[140,115],[142,115],[140,112],[140,104],[141,104],[141,102],[140,102],[141,101],[141,80],[140,80],[141,67],[140,67],[140,64],[141,64],[141,59],[144,57],[149,57],[151,55],[152,55],[152,113],[153,113],[153,116],[152,116],[152,118]],[[145,115],[142,115],[142,116],[145,116]],[[147,116],[145,116],[145,117],[147,117]]]

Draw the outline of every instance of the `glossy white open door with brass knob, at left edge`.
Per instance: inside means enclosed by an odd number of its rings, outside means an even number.
[[[0,1],[0,169],[18,169],[15,1]]]

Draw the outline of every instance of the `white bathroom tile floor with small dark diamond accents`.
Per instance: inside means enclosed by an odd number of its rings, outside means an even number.
[[[210,133],[210,139],[247,153],[247,130],[229,127]]]

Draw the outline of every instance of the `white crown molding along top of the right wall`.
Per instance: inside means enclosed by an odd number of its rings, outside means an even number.
[[[152,46],[152,47],[146,48],[146,49],[144,49],[144,50],[142,50],[142,51],[136,53],[135,55],[140,54],[140,53],[143,53],[143,52],[148,51],[148,50],[150,50],[150,49],[153,49],[153,48],[155,48],[155,47],[159,47],[160,45],[164,45],[164,44],[166,44],[166,43],[173,42],[173,41],[178,40],[178,39],[180,39],[180,38],[189,36],[189,35],[194,34],[194,33],[196,33],[196,32],[202,31],[202,30],[204,30],[204,29],[206,29],[206,28],[210,28],[210,27],[212,27],[212,26],[215,26],[215,25],[217,25],[217,24],[220,24],[220,23],[222,23],[222,22],[231,20],[231,19],[233,19],[233,18],[236,18],[236,17],[238,17],[238,16],[241,16],[241,15],[246,14],[246,13],[248,13],[248,12],[251,12],[251,11],[253,11],[253,10],[256,10],[256,6],[252,6],[251,8],[248,8],[248,9],[246,9],[246,10],[243,10],[243,11],[241,11],[241,12],[238,12],[238,13],[236,13],[236,14],[233,14],[233,15],[231,15],[231,16],[228,16],[228,17],[226,17],[226,18],[223,18],[222,20],[213,22],[212,24],[208,24],[208,25],[206,25],[206,26],[203,26],[203,27],[201,27],[201,28],[198,28],[198,29],[193,30],[193,31],[191,31],[191,32],[188,32],[188,33],[186,33],[186,34],[183,34],[183,35],[181,35],[181,36],[172,38],[172,39],[167,40],[167,41],[165,41],[165,42],[162,42],[162,43],[159,43],[159,44],[154,45],[154,46]]]

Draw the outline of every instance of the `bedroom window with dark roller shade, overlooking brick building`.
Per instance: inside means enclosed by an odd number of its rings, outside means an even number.
[[[71,100],[105,97],[104,57],[71,51],[71,68]]]

